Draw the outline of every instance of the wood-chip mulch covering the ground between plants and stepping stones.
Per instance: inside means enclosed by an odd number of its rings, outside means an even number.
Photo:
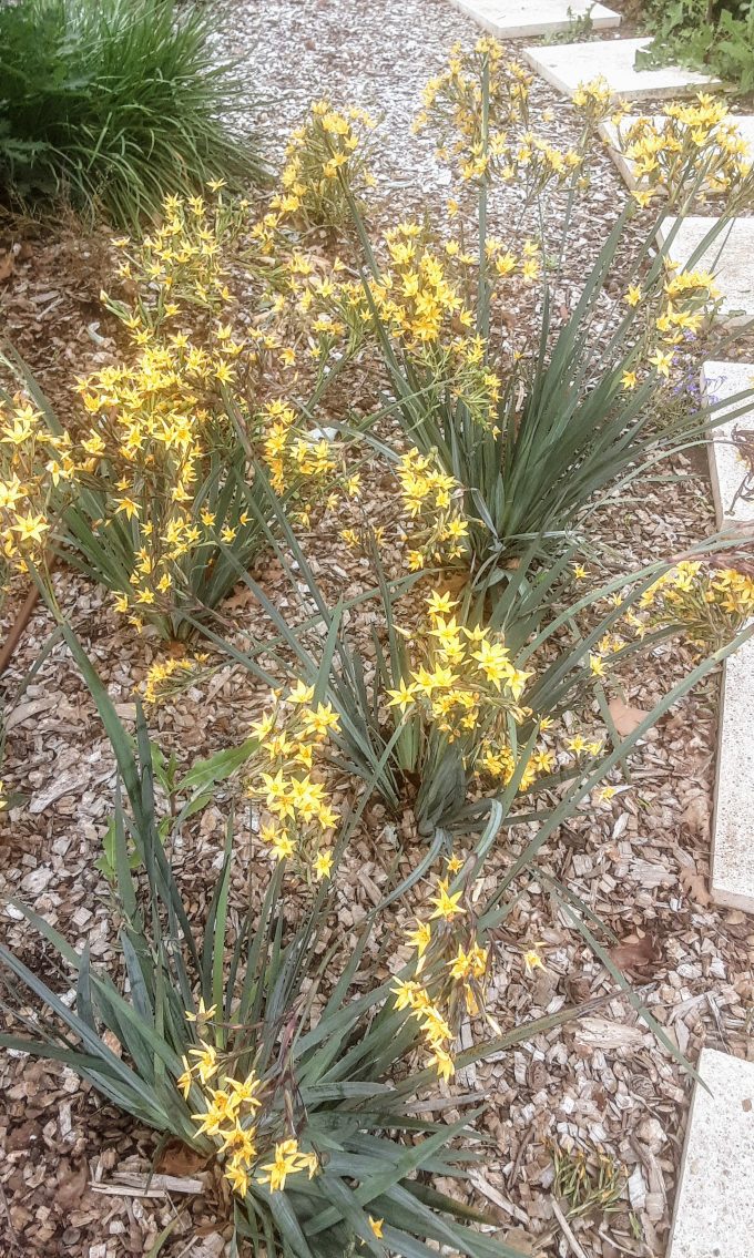
[[[452,42],[476,36],[470,20],[444,0],[227,0],[223,11],[227,50],[243,59],[271,162],[279,162],[284,136],[310,101],[327,93],[381,117],[376,172],[385,203],[374,211],[378,228],[443,205],[444,172],[429,141],[412,137],[409,125],[423,83],[441,68]],[[532,104],[535,117],[553,111],[553,140],[575,140],[579,123],[570,106],[546,84],[535,83]],[[598,176],[573,226],[570,269],[560,294],[565,303],[623,198],[618,174],[600,153]],[[555,220],[560,210],[553,199]],[[493,230],[505,234],[509,219],[510,205],[501,196],[492,206]],[[98,302],[111,265],[107,233],[82,234],[76,223],[9,220],[0,223],[0,263],[6,259],[0,267],[0,316],[8,335],[59,413],[73,421],[72,377],[107,361],[115,350],[116,330]],[[525,328],[532,312],[522,306],[514,316]],[[677,458],[670,470],[673,479],[634,484],[603,509],[602,532],[626,570],[678,552],[714,528],[699,460]],[[364,482],[365,509],[375,516],[389,509],[379,464],[366,468]],[[335,530],[313,531],[306,541],[334,598],[364,587],[364,567]],[[284,608],[288,594],[279,567],[263,566],[258,579]],[[135,689],[157,653],[156,643],[125,625],[102,591],[81,577],[58,572],[55,582],[122,720],[132,727]],[[19,582],[5,625],[24,593]],[[234,596],[230,615],[239,637],[266,633],[247,591]],[[52,629],[48,614],[37,609],[3,678],[3,777],[25,800],[3,818],[0,893],[23,898],[73,944],[88,942],[93,960],[115,970],[110,888],[96,868],[115,764],[91,697],[59,644],[29,678]],[[652,707],[689,667],[682,652],[660,649],[656,669],[629,681],[628,702]],[[695,1059],[701,1045],[710,1044],[754,1057],[754,927],[745,915],[712,906],[706,891],[717,686],[716,678],[707,681],[671,712],[633,757],[629,788],[564,827],[544,849],[539,874],[516,887],[519,898],[498,941],[491,1011],[509,1028],[566,1004],[594,1001],[578,1021],[524,1042],[461,1081],[488,1097],[482,1126],[492,1137],[488,1160],[468,1185],[470,1200],[498,1219],[501,1234],[524,1253],[554,1258],[575,1252],[553,1209],[553,1145],[564,1147],[570,1138],[587,1150],[604,1150],[626,1169],[627,1188],[616,1211],[595,1210],[570,1222],[588,1258],[662,1253],[690,1096],[684,1071],[584,946],[549,878],[565,883],[611,926],[619,940],[614,960],[682,1053]],[[240,741],[262,698],[245,674],[225,665],[209,686],[154,710],[152,736],[188,766]],[[224,805],[234,789],[230,784],[218,791],[179,853],[198,916],[214,886]],[[496,886],[525,838],[514,834],[501,844],[488,862],[482,894]],[[240,821],[238,843],[254,859],[247,820]],[[391,855],[397,843],[375,806],[339,888],[332,928],[344,947],[385,879],[380,852]],[[417,849],[407,848],[404,859],[413,863]],[[390,928],[400,927],[404,916],[405,910],[398,911]],[[3,926],[8,945],[64,989],[68,980],[30,940],[16,911],[4,915]],[[522,952],[535,941],[545,969],[531,975]],[[169,1225],[160,1249],[165,1258],[219,1258],[224,1252],[227,1195],[184,1151],[169,1150],[159,1171],[204,1175],[203,1193],[156,1189],[161,1195],[131,1195],[128,1175],[143,1177],[149,1170],[152,1133],[103,1107],[54,1063],[6,1054],[0,1087],[6,1101],[0,1112],[0,1254],[143,1254]]]

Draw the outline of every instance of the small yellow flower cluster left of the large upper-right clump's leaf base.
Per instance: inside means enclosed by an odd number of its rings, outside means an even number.
[[[410,571],[429,564],[442,567],[461,559],[468,533],[463,493],[453,477],[442,470],[437,453],[408,450],[398,464],[398,479],[403,507],[412,521]]]

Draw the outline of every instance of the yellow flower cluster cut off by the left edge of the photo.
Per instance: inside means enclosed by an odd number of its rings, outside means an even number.
[[[0,403],[0,528],[3,557],[18,571],[39,567],[50,541],[50,511],[76,476],[68,434],[57,437],[33,401]]]

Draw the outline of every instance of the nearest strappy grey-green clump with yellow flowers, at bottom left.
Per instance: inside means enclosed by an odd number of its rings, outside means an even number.
[[[68,640],[92,682],[81,648],[70,634]],[[133,809],[118,804],[112,827],[123,977],[101,971],[88,949],[77,951],[18,903],[73,990],[70,999],[53,990],[0,945],[8,1015],[0,1045],[67,1066],[138,1123],[195,1150],[232,1193],[235,1245],[254,1254],[339,1258],[359,1244],[378,1258],[388,1250],[414,1258],[432,1240],[470,1258],[516,1258],[488,1234],[490,1219],[432,1186],[437,1176],[462,1181],[478,1161],[478,1111],[454,1123],[415,1115],[417,1091],[433,1087],[436,1067],[446,1076],[449,1069],[444,1060],[410,1068],[434,1018],[428,1005],[419,1025],[418,998],[408,1013],[399,995],[414,960],[399,966],[395,990],[391,979],[373,981],[374,965],[390,972],[394,960],[390,935],[379,930],[385,906],[370,913],[345,959],[329,927],[335,906],[327,883],[287,925],[281,866],[262,886],[252,879],[238,912],[229,825],[205,918],[193,921],[159,837],[143,720],[133,747],[102,687],[94,693]],[[339,855],[359,811],[339,819]],[[128,835],[137,840],[137,868]],[[437,946],[461,912],[446,911],[441,886],[443,912],[430,928]],[[447,903],[457,906],[458,896]],[[457,923],[453,935],[461,937]],[[423,982],[436,1000],[443,993],[447,1001],[449,985],[463,994],[481,984],[482,950],[470,944],[468,961],[463,952],[448,970],[448,942],[449,935],[442,956],[434,957],[432,940],[422,950]],[[520,1035],[498,1037],[495,1047]]]

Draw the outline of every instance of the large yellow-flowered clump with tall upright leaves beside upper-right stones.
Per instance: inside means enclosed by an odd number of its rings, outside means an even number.
[[[551,556],[617,487],[706,440],[723,421],[719,405],[668,411],[663,401],[717,309],[705,252],[754,204],[754,176],[731,148],[728,121],[705,98],[671,107],[672,153],[657,159],[650,187],[627,196],[580,296],[564,309],[553,294],[571,262],[573,210],[589,186],[593,127],[613,107],[609,92],[585,84],[577,94],[582,136],[560,150],[537,136],[527,93],[527,72],[486,38],[471,52],[453,49],[448,69],[430,81],[418,125],[436,133],[457,180],[447,225],[399,223],[375,240],[341,180],[363,249],[363,287],[336,283],[332,317],[347,306],[346,355],[365,343],[378,351],[405,440],[461,487],[467,557],[482,579],[535,537]],[[682,216],[710,184],[724,196],[721,213],[678,268],[671,249]],[[501,238],[490,229],[488,204],[506,185],[521,224]],[[565,210],[553,226],[556,192]],[[633,273],[618,289],[617,260],[647,205],[655,220],[631,245]],[[541,294],[541,313],[537,330],[521,336],[509,312],[527,289]],[[342,370],[342,347],[337,353]],[[750,396],[734,399],[736,414]]]

